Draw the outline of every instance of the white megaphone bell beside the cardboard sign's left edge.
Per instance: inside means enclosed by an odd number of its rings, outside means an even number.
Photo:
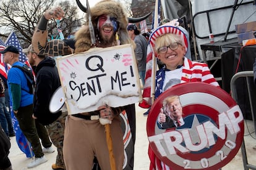
[[[59,86],[51,97],[49,111],[51,111],[51,113],[57,113],[64,106],[65,100],[63,89]]]

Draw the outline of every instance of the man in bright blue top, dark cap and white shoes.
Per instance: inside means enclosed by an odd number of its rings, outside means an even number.
[[[7,84],[10,100],[14,115],[19,121],[20,129],[25,137],[32,144],[32,150],[35,153],[35,159],[28,164],[28,168],[34,168],[47,160],[41,148],[38,133],[36,131],[33,113],[33,94],[30,94],[27,78],[20,68],[14,68],[15,65],[24,67],[25,63],[19,62],[19,50],[14,46],[8,46],[4,51],[4,62],[9,63],[12,68],[8,72]]]

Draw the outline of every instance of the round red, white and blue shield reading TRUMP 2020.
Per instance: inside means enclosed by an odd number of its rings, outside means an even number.
[[[181,102],[182,126],[163,128],[160,110],[164,99],[173,95]],[[155,100],[147,134],[155,155],[170,168],[216,170],[228,164],[241,147],[244,118],[237,103],[220,87],[184,83]]]

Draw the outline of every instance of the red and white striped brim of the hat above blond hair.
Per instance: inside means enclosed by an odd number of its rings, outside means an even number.
[[[160,36],[163,36],[164,34],[177,34],[181,36],[181,41],[184,43],[186,47],[186,52],[187,52],[187,47],[189,44],[187,43],[187,38],[185,33],[181,31],[177,26],[171,26],[171,25],[168,25],[168,23],[161,25],[159,28],[153,31],[153,33],[151,33],[149,42],[150,42],[152,51],[154,49],[153,47],[155,47],[156,39],[159,38]]]

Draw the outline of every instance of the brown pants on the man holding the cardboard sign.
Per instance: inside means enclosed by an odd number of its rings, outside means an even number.
[[[118,116],[113,119],[110,128],[116,169],[122,169],[124,144]],[[101,170],[111,170],[105,127],[98,120],[67,116],[63,153],[67,170],[91,170],[94,156]]]

